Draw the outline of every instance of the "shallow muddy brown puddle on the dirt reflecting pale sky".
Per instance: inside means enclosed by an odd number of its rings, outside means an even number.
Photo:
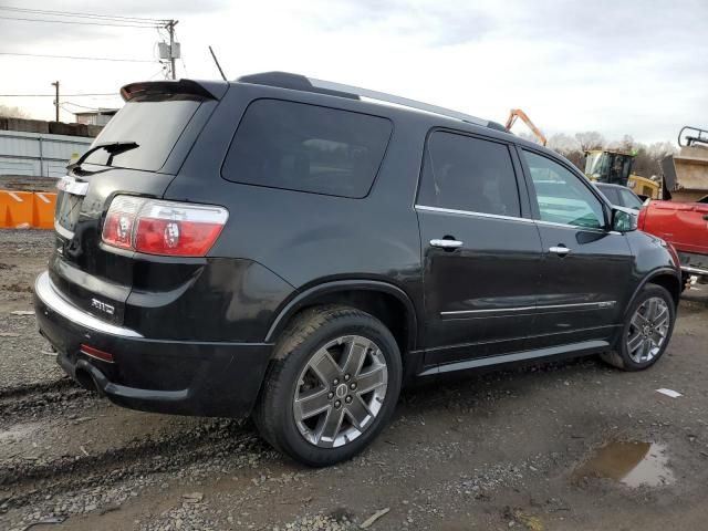
[[[581,478],[610,478],[628,487],[660,487],[676,478],[668,468],[666,446],[657,442],[614,441],[575,470]]]

